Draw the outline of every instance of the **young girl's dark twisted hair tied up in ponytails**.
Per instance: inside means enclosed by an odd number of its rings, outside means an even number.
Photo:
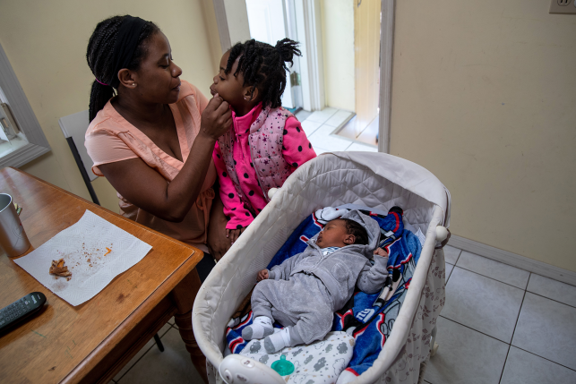
[[[224,72],[230,73],[234,62],[240,57],[234,76],[241,72],[244,74],[243,86],[252,86],[252,92],[258,88],[263,107],[280,107],[280,97],[286,88],[287,63],[293,64],[294,55],[302,55],[297,47],[298,43],[289,38],[279,40],[276,47],[254,38],[237,43],[230,49]]]

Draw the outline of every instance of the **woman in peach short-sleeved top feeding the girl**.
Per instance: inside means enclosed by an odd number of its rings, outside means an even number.
[[[96,77],[85,142],[93,172],[114,186],[125,217],[202,249],[203,280],[214,266],[207,244],[217,258],[229,246],[222,204],[212,204],[211,160],[232,121],[228,103],[180,81],[168,38],[151,21],[99,22],[86,58]]]

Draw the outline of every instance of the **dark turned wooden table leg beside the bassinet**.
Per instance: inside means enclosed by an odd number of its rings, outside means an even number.
[[[185,343],[186,350],[190,353],[190,358],[196,371],[200,373],[204,382],[208,383],[208,376],[206,374],[206,357],[196,343],[192,329],[192,307],[194,298],[200,289],[201,282],[198,277],[198,272],[193,269],[188,276],[186,276],[170,293],[172,300],[176,303],[176,325],[180,331],[180,337]]]

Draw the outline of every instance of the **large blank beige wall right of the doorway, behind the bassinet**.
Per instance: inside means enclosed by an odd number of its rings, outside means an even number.
[[[576,15],[396,4],[391,154],[448,187],[455,235],[576,271]]]

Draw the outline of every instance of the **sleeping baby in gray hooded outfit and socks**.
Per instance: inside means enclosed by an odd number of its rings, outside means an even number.
[[[254,321],[242,330],[242,337],[265,337],[269,354],[325,337],[334,311],[348,302],[355,286],[373,294],[384,285],[388,257],[382,249],[374,252],[379,238],[378,223],[351,210],[329,221],[304,252],[258,272],[252,294]],[[285,328],[274,333],[274,320]]]

